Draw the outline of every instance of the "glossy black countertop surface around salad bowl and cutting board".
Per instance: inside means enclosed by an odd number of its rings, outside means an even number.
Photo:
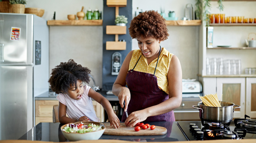
[[[145,122],[146,123],[146,122]],[[179,129],[177,122],[147,122],[150,125],[162,126],[167,129],[165,135],[152,136],[117,136],[117,135],[102,135],[99,139],[115,139],[126,141],[140,142],[166,142],[166,141],[186,141],[185,136]],[[34,126],[19,140],[36,140],[36,141],[53,141],[65,142],[68,141],[62,134],[60,127],[61,123],[39,123]]]

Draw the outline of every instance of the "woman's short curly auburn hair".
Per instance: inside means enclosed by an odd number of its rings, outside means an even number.
[[[154,37],[164,41],[169,36],[165,19],[154,10],[142,12],[134,17],[130,23],[129,33],[132,39],[142,34],[144,37]]]

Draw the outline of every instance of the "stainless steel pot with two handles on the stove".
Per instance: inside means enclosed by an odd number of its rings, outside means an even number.
[[[199,105],[199,106],[198,106]],[[199,117],[201,120],[207,122],[230,122],[233,119],[233,112],[236,108],[241,108],[239,105],[235,105],[231,102],[221,102],[221,107],[205,106],[203,102],[199,102],[198,105],[192,106],[195,109],[199,109]],[[233,108],[233,106],[238,106]]]

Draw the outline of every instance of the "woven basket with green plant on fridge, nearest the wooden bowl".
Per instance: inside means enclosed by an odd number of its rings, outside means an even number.
[[[11,4],[12,13],[25,13],[26,0],[9,0]]]

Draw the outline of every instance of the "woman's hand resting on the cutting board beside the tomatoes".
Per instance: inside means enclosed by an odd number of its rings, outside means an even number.
[[[144,110],[135,111],[135,112],[132,112],[128,116],[128,118],[125,120],[124,124],[128,127],[133,127],[137,123],[142,122],[142,121],[146,120],[147,118],[148,118],[148,114]]]

